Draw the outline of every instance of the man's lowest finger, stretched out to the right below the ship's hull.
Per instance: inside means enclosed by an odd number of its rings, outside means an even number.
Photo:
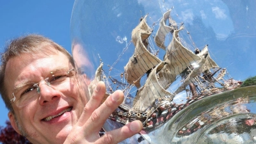
[[[124,125],[120,129],[106,132],[104,136],[100,137],[97,143],[120,143],[134,134],[138,134],[142,129],[142,124],[139,120]]]

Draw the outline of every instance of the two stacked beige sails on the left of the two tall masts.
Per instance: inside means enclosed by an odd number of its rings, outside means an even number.
[[[150,29],[146,23],[146,17],[132,30],[132,42],[135,45],[135,51],[124,67],[125,79],[127,79],[128,83],[134,84],[137,88],[140,88],[141,76],[161,62],[161,60],[150,53],[145,46],[145,40],[152,33],[152,29]]]

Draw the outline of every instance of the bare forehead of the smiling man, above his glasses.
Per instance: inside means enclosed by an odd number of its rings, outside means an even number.
[[[7,87],[14,88],[19,83],[28,83],[29,79],[51,74],[59,69],[69,67],[67,56],[62,52],[56,54],[20,54],[11,58],[5,70],[4,83]]]

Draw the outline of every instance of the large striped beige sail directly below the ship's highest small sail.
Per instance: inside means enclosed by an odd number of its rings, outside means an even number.
[[[183,26],[180,26],[178,30],[174,30],[172,42],[168,45],[164,55],[164,62],[168,64],[164,65],[164,68],[159,72],[159,83],[162,86],[170,86],[183,70],[201,59],[200,56],[197,56],[180,43],[178,33],[182,29]]]

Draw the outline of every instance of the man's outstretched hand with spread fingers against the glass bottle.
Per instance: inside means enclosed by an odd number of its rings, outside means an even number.
[[[141,131],[142,124],[136,120],[119,129],[106,132],[101,137],[99,136],[99,131],[109,115],[124,100],[124,93],[117,90],[109,95],[105,102],[100,105],[105,92],[105,84],[99,82],[93,92],[92,98],[84,107],[84,111],[77,124],[72,128],[70,134],[68,134],[65,143],[119,143]]]

